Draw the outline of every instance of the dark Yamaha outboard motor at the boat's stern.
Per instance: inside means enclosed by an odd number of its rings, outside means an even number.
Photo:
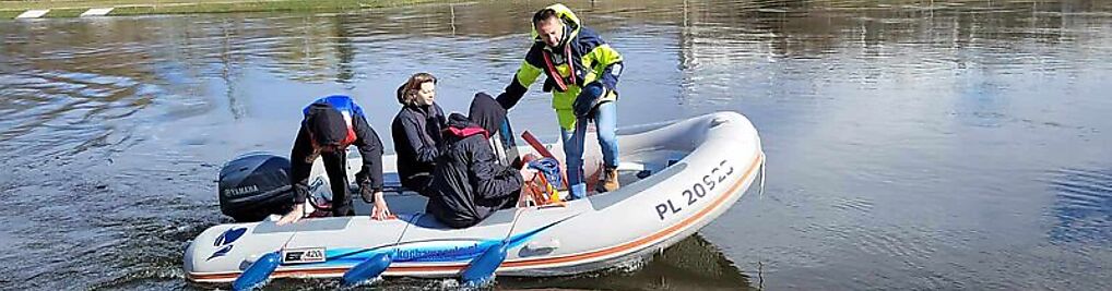
[[[239,155],[220,168],[220,212],[238,222],[261,221],[292,209],[289,159],[264,152]]]

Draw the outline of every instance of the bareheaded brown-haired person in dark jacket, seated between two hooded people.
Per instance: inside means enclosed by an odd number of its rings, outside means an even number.
[[[435,98],[436,77],[424,72],[409,77],[398,87],[403,108],[390,126],[401,185],[418,193],[428,187],[444,146],[440,131],[447,127],[444,110]]]

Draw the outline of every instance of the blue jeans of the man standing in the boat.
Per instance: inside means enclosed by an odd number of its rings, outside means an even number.
[[[598,104],[595,109],[595,126],[598,128],[598,146],[603,149],[603,163],[607,168],[618,167],[617,107],[614,102]],[[587,119],[575,121],[575,131],[560,128],[564,141],[564,158],[567,162],[567,184],[572,200],[587,197],[587,184],[583,174],[583,143],[587,136]]]

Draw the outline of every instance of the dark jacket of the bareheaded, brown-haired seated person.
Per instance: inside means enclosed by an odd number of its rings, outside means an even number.
[[[418,192],[427,185],[428,175],[436,168],[436,158],[444,147],[440,131],[445,127],[447,119],[436,103],[406,106],[394,117],[390,136],[394,137],[394,151],[398,154],[401,185]]]

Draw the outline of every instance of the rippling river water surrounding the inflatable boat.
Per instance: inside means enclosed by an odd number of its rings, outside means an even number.
[[[466,111],[547,3],[0,22],[0,289],[227,288],[181,270],[222,162],[330,93],[389,137],[417,71]],[[496,288],[1112,289],[1112,2],[567,4],[625,57],[619,127],[741,112],[768,184],[652,262]],[[510,118],[557,134],[539,86]]]

